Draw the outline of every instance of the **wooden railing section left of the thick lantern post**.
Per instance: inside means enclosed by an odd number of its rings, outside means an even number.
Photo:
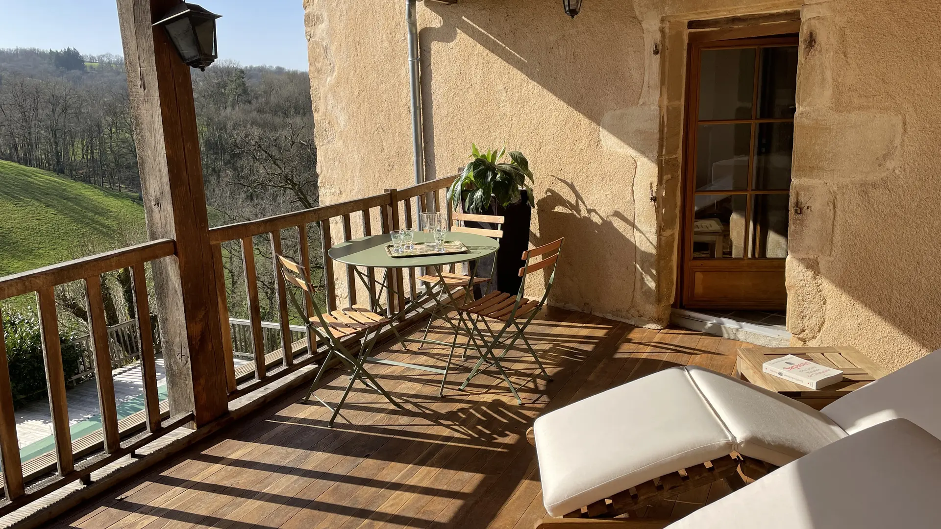
[[[0,502],[0,515],[37,500],[77,479],[86,481],[90,473],[95,470],[134,452],[137,448],[154,441],[180,425],[192,421],[192,413],[183,413],[180,416],[162,420],[153,358],[151,310],[144,272],[144,264],[174,255],[175,249],[174,241],[161,239],[0,278],[0,300],[30,293],[35,293],[38,299],[42,356],[48,382],[55,440],[55,457],[50,461],[52,465],[30,465],[29,463],[32,462],[30,461],[24,466],[21,463],[6,344],[0,339],[0,451],[2,451],[3,458],[5,496],[5,500]],[[101,276],[122,268],[131,268],[134,281],[134,303],[138,328],[136,336],[139,340],[144,378],[145,431],[136,435],[127,435],[135,429],[128,428],[127,425],[122,428],[119,424],[114,380],[111,377],[108,330],[104,322]],[[94,363],[102,416],[102,437],[99,438],[101,441],[98,446],[73,446],[69,428],[66,380],[62,366],[54,289],[58,285],[72,281],[83,281],[87,294],[91,343],[95,351]],[[0,337],[3,336],[2,321],[0,319]],[[122,434],[124,434],[124,439],[122,439]],[[92,455],[76,463],[75,448],[79,448],[77,451],[79,457],[89,452]],[[50,471],[55,472],[51,478],[47,477]]]

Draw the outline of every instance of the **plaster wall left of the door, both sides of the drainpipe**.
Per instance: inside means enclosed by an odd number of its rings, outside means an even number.
[[[471,141],[524,152],[536,175],[532,241],[566,236],[550,301],[663,325],[673,300],[680,163],[668,145],[680,133],[662,134],[672,122],[662,118],[664,17],[793,4],[594,0],[572,20],[533,0],[423,3],[427,174],[454,173]],[[322,200],[409,184],[404,3],[305,0],[305,8]],[[684,40],[673,46],[684,54]],[[678,118],[682,72],[671,78],[678,85],[668,110]],[[529,283],[528,295],[542,292],[541,281]]]

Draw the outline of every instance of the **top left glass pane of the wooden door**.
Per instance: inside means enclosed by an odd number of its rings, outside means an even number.
[[[751,120],[757,48],[703,50],[699,120]]]

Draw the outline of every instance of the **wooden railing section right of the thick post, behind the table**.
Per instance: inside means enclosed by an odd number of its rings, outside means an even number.
[[[315,361],[318,344],[310,335],[301,340],[294,340],[292,336],[291,316],[288,312],[288,300],[284,290],[284,280],[275,275],[276,286],[275,309],[279,320],[280,348],[267,352],[264,340],[264,322],[262,320],[262,304],[258,288],[258,263],[256,257],[259,253],[256,238],[267,239],[271,259],[276,253],[286,253],[285,237],[296,242],[295,255],[311,279],[311,241],[315,243],[315,250],[322,263],[322,274],[319,278],[324,290],[324,303],[327,311],[336,310],[341,299],[349,305],[356,305],[359,297],[376,296],[375,284],[370,284],[372,292],[366,292],[364,287],[357,286],[356,272],[352,266],[333,264],[327,255],[332,248],[334,237],[339,235],[343,241],[355,237],[367,236],[375,233],[387,233],[403,227],[417,226],[418,211],[448,211],[445,200],[445,190],[454,182],[456,175],[439,178],[423,184],[413,185],[405,189],[386,189],[382,194],[373,195],[356,200],[346,200],[335,204],[328,204],[303,211],[288,213],[279,216],[269,216],[258,220],[240,222],[227,226],[220,226],[209,231],[212,245],[213,261],[215,264],[216,291],[219,295],[219,319],[222,328],[222,344],[226,361],[226,379],[228,383],[230,400],[250,393],[268,382],[284,377]],[[413,201],[415,202],[413,204]],[[450,216],[450,213],[449,213]],[[378,230],[376,230],[378,223]],[[311,227],[311,225],[313,225]],[[356,228],[356,229],[354,229]],[[282,232],[288,232],[287,235]],[[251,352],[253,362],[236,368],[233,355],[233,337],[231,336],[230,307],[227,298],[226,277],[224,274],[223,245],[237,243],[235,251],[240,253],[243,267],[243,277],[236,278],[231,275],[231,281],[243,282],[247,301],[247,320],[250,328]],[[272,262],[271,269],[277,269]],[[339,270],[337,266],[344,269]],[[364,272],[371,281],[375,281],[375,271],[370,269]],[[408,273],[407,289],[405,278],[401,270],[394,270],[386,274],[388,281],[385,289],[385,308],[392,312],[404,307],[406,297],[418,291],[419,285],[415,281],[414,271]],[[318,278],[314,278],[315,284]],[[391,287],[391,289],[389,288]],[[359,292],[363,290],[363,292]],[[391,296],[391,290],[399,295]],[[297,317],[310,317],[312,305],[307,301],[307,314],[298,314]],[[298,322],[300,323],[300,322]],[[296,329],[296,327],[295,327]],[[239,340],[236,340],[239,341]],[[241,351],[246,353],[248,351]],[[311,354],[312,352],[312,354]]]

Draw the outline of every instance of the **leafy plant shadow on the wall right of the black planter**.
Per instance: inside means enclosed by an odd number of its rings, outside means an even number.
[[[559,293],[563,292],[566,294],[564,298],[579,303],[582,312],[591,313],[592,303],[611,297],[613,291],[630,293],[630,298],[619,304],[626,311],[633,307],[635,299],[652,299],[656,270],[643,264],[652,264],[654,260],[649,258],[649,252],[637,248],[635,242],[625,234],[624,226],[630,228],[632,233],[641,231],[620,212],[615,212],[613,216],[602,216],[597,210],[588,207],[575,184],[555,176],[552,178],[566,187],[572,200],[555,189],[548,189],[545,196],[536,202],[535,214],[542,232],[539,235],[530,233],[530,239],[536,246],[566,237],[550,300],[559,298]],[[618,226],[615,221],[622,223],[622,226]],[[598,254],[598,241],[602,241],[603,248],[608,249],[603,255]],[[622,263],[623,268],[613,268],[612,257],[614,262]],[[589,277],[585,281],[585,275],[594,278]],[[649,278],[650,281],[635,281],[638,277]],[[616,284],[618,282],[622,284]],[[637,313],[614,315],[629,320],[639,316]]]

